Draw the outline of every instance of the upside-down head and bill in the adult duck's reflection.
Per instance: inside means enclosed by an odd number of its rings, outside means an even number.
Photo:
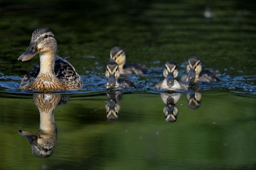
[[[56,140],[49,138],[48,134],[39,131],[38,133],[28,131],[18,131],[20,135],[26,137],[31,145],[33,155],[40,158],[47,158],[52,155]]]

